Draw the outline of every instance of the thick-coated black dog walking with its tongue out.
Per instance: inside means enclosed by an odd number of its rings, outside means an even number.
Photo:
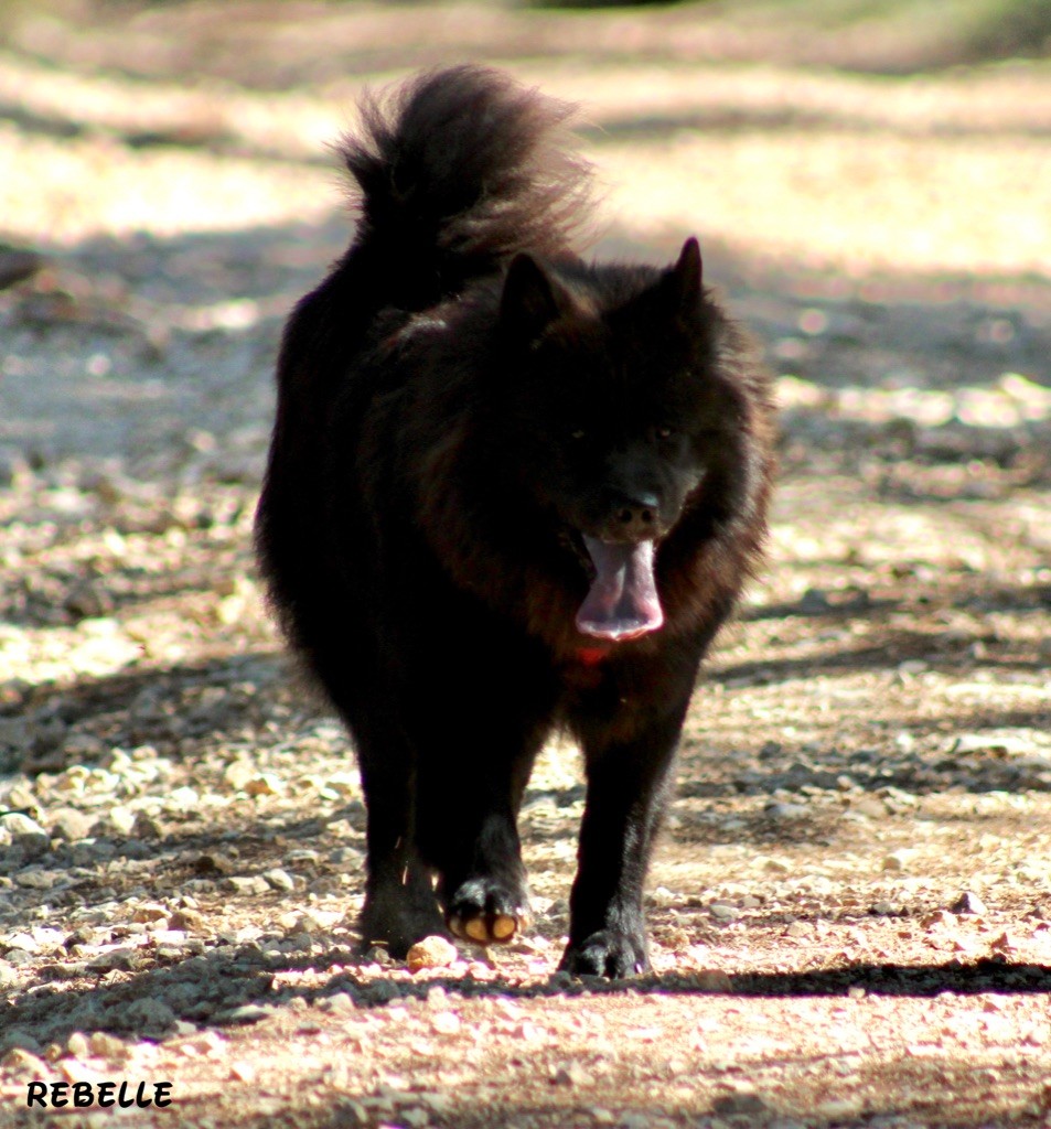
[[[587,770],[562,968],[639,972],[698,665],[764,535],[767,379],[695,239],[667,270],[570,251],[568,107],[457,67],[362,115],[360,224],[286,329],[257,542],[357,747],[364,940],[515,936],[518,807],[562,727]]]

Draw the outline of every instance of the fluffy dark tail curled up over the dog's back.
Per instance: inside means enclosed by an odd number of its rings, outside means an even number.
[[[360,187],[356,248],[396,283],[398,305],[455,294],[519,251],[566,254],[590,195],[572,113],[476,65],[366,95],[340,151]]]

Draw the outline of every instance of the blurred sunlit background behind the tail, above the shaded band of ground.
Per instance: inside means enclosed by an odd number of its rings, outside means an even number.
[[[581,104],[619,230],[1051,269],[1046,0],[7,0],[0,33],[0,224],[33,243],[324,216],[361,85],[473,59]]]

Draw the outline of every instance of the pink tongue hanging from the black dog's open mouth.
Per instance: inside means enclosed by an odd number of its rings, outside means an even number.
[[[598,575],[577,612],[577,629],[614,642],[656,631],[664,612],[654,577],[654,542],[631,545],[586,536],[584,544]]]

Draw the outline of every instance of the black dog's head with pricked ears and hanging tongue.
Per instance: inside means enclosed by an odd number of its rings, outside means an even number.
[[[733,417],[720,325],[695,239],[665,271],[510,264],[498,332],[518,479],[590,574],[586,634],[621,640],[663,622],[657,551]]]

